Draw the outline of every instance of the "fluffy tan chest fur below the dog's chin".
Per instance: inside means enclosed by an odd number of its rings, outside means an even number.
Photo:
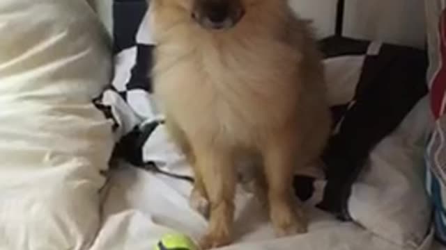
[[[173,28],[155,52],[155,92],[190,135],[251,143],[295,119],[298,53],[274,38]]]

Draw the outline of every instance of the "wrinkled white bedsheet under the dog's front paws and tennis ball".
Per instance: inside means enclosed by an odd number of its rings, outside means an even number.
[[[102,230],[91,250],[147,250],[173,230],[197,239],[206,220],[188,206],[190,188],[183,181],[140,169],[117,170],[107,190]],[[311,206],[307,206],[312,219],[309,233],[275,239],[266,214],[251,194],[240,191],[237,206],[238,243],[224,249],[401,250],[360,226],[338,222]],[[429,249],[429,240],[420,250]]]

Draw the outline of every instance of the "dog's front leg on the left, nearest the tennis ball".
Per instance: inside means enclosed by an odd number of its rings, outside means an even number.
[[[201,173],[210,201],[207,234],[201,239],[202,249],[231,243],[236,173],[231,153],[211,147],[195,147],[197,168]]]

